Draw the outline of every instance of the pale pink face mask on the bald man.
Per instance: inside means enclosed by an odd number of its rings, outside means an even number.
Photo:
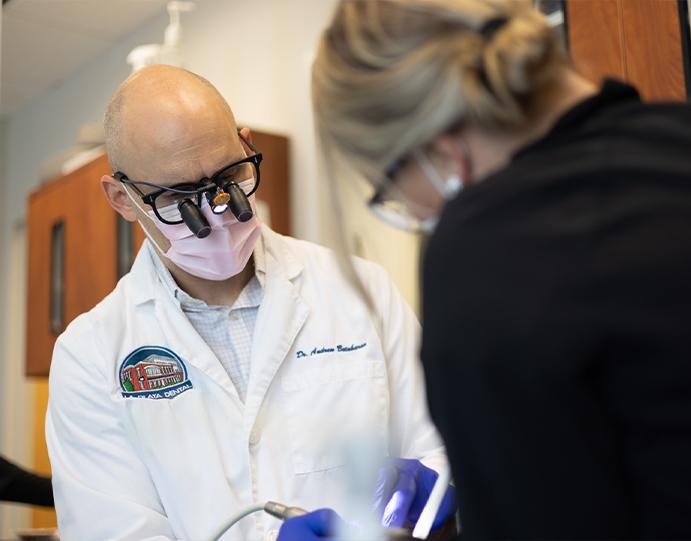
[[[142,226],[151,243],[182,270],[206,280],[226,280],[242,272],[247,265],[261,231],[254,196],[249,198],[254,217],[247,222],[239,222],[230,210],[214,214],[204,198],[201,211],[211,226],[211,233],[199,239],[184,223],[164,224],[153,210],[144,210],[129,190],[125,191],[170,241],[170,248],[164,252]]]

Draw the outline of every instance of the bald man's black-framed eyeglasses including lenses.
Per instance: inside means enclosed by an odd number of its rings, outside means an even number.
[[[184,222],[180,203],[186,199],[199,208],[206,199],[215,214],[222,214],[230,207],[236,217],[244,221],[238,216],[235,205],[242,205],[243,201],[240,199],[246,201],[246,198],[259,188],[259,164],[262,161],[262,155],[242,135],[240,138],[254,154],[222,167],[211,178],[202,179],[200,182],[161,186],[152,182],[132,180],[121,171],[113,173],[113,177],[132,186],[142,201],[151,207],[156,217],[164,224],[175,225]],[[155,188],[155,190],[144,193],[140,186]]]

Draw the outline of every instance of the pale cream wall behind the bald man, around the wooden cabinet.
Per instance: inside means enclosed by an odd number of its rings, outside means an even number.
[[[197,3],[196,11],[183,15],[186,67],[218,87],[239,123],[290,138],[293,234],[333,245],[333,220],[317,173],[309,75],[319,33],[336,0]],[[10,271],[17,272],[16,262],[7,257],[11,235],[24,220],[26,196],[37,186],[39,164],[71,147],[81,124],[101,119],[110,95],[129,73],[127,53],[136,45],[160,42],[166,24],[167,16],[162,14],[135,29],[7,119],[6,155],[0,167],[0,250],[5,256],[0,258],[0,339],[13,315],[7,296],[16,286],[10,282]],[[415,303],[416,243],[360,218],[365,213],[362,205],[353,207],[349,217],[356,224],[352,229],[360,237],[362,253],[382,262]],[[17,366],[24,362],[19,357],[5,361]],[[2,415],[7,422],[11,412]]]

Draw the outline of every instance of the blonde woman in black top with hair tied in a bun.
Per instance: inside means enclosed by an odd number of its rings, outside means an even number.
[[[461,537],[691,538],[689,106],[592,85],[510,0],[344,1],[313,97],[372,209],[434,231]]]

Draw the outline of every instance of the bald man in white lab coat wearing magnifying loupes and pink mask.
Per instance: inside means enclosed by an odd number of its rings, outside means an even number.
[[[105,128],[105,195],[148,240],[55,346],[46,432],[61,539],[205,540],[266,500],[340,510],[356,434],[443,467],[410,309],[358,260],[370,311],[330,251],[251,215],[261,149],[216,89],[146,68]],[[279,526],[256,515],[223,539]]]

